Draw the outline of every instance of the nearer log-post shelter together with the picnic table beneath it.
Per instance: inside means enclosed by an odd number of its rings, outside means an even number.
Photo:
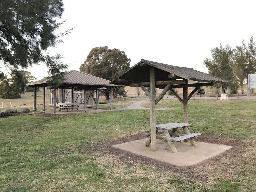
[[[189,80],[198,83],[189,83]],[[156,139],[168,142],[172,152],[177,153],[173,142],[190,141],[192,146],[197,146],[194,138],[200,133],[190,133],[188,121],[188,100],[202,86],[213,86],[214,83],[228,84],[229,81],[203,73],[193,68],[179,67],[157,63],[141,59],[140,62],[128,69],[118,78],[112,80],[110,84],[125,85],[131,87],[141,87],[145,94],[150,98],[150,136],[145,146],[151,144],[151,151],[156,151]],[[150,87],[150,91],[146,87]],[[188,95],[188,87],[195,87]],[[155,88],[163,88],[163,91],[156,98]],[[183,88],[183,98],[180,97],[173,88]],[[183,123],[167,122],[166,124],[156,125],[157,103],[170,90],[183,104]],[[182,128],[180,132],[178,128]]]

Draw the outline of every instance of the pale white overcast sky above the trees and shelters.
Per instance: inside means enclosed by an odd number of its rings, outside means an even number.
[[[211,48],[256,40],[255,7],[244,0],[64,0],[61,30],[76,28],[49,52],[62,52],[68,70],[79,70],[92,48],[108,46],[124,51],[130,66],[143,58],[208,72]],[[38,80],[47,75],[43,66],[28,71]]]

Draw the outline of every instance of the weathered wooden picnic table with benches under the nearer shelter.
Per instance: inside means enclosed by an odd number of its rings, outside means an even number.
[[[176,122],[156,125],[156,139],[167,141],[172,152],[174,153],[177,153],[178,151],[175,145],[173,144],[173,142],[189,139],[192,146],[197,146],[194,138],[200,135],[201,133],[190,133],[188,129],[190,125],[191,124],[189,123],[176,123]],[[178,128],[182,128],[185,134],[181,133],[178,130]],[[150,133],[147,134],[147,136],[150,136]],[[151,143],[151,138],[149,137],[145,146],[148,147],[150,143]]]

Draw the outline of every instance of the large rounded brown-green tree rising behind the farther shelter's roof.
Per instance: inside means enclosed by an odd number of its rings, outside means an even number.
[[[85,62],[81,64],[80,71],[113,80],[129,69],[131,59],[127,58],[124,51],[105,47],[93,48]],[[117,97],[118,88],[113,88],[113,96]],[[104,90],[106,99],[109,99],[109,89]]]

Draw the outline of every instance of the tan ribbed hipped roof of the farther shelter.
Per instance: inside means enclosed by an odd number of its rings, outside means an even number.
[[[114,86],[112,84],[109,84],[109,80],[96,77],[87,73],[83,73],[76,70],[70,70],[67,72],[64,72],[63,75],[63,82],[61,84],[63,85],[95,85],[95,86]],[[44,78],[38,81],[34,81],[31,83],[28,83],[27,86],[40,86],[43,84],[50,84],[52,83],[52,78]],[[117,85],[118,86],[118,85]]]

